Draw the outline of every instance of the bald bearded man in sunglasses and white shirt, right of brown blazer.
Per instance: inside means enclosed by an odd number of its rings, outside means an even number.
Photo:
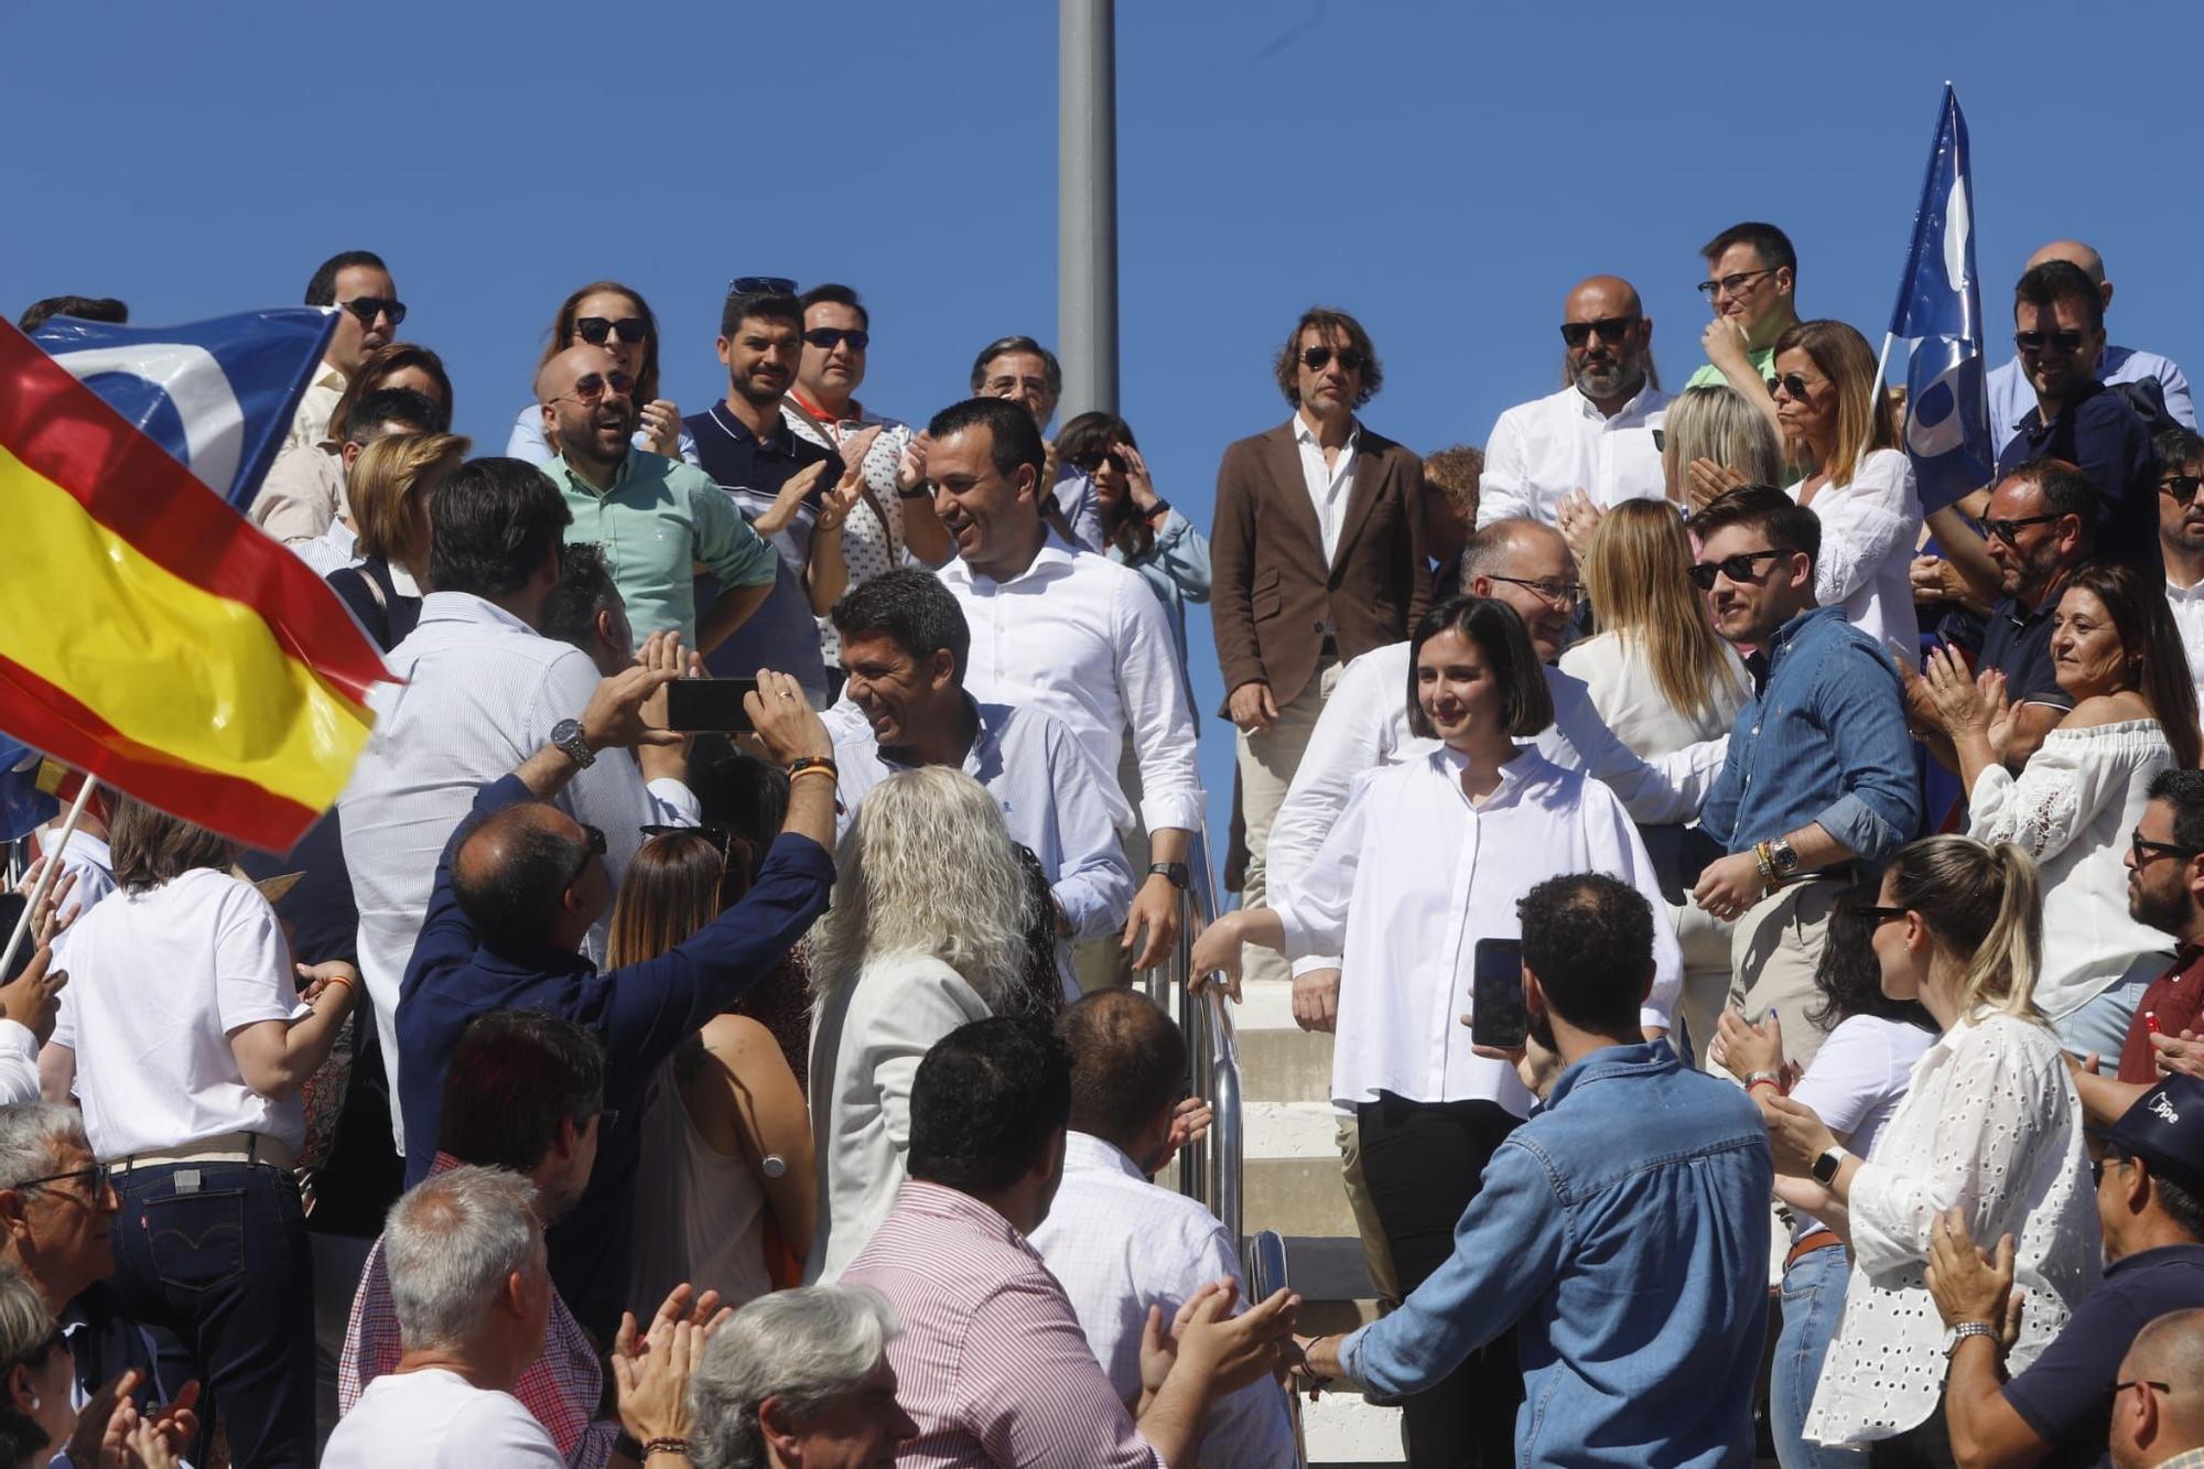
[[[1596,507],[1666,494],[1653,432],[1668,395],[1653,382],[1653,318],[1620,276],[1578,282],[1560,307],[1560,393],[1516,404],[1485,439],[1477,527],[1525,516],[1558,525],[1582,492]]]

